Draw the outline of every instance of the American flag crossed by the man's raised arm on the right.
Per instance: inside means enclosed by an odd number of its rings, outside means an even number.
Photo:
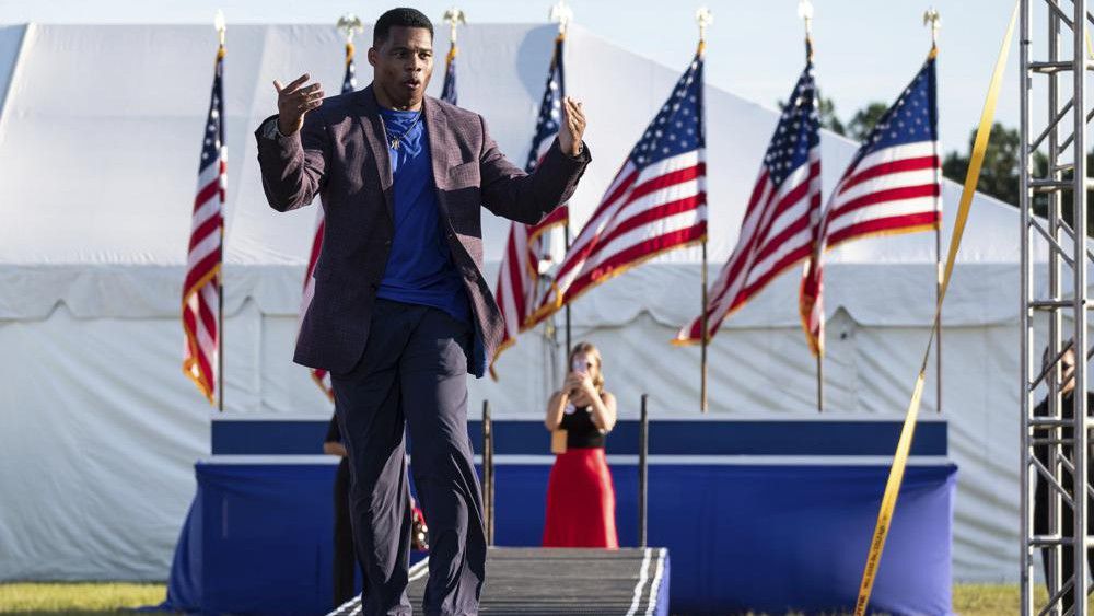
[[[536,132],[532,138],[528,162],[524,167],[528,173],[536,170],[544,154],[555,142],[561,126],[562,98],[566,96],[562,71],[563,40],[561,35],[555,40],[555,53],[547,71],[547,84],[539,103]],[[532,327],[528,318],[539,294],[539,263],[544,257],[550,258],[547,232],[555,226],[566,224],[568,217],[568,208],[562,205],[537,224],[514,222],[509,230],[509,241],[505,242],[505,254],[502,255],[501,268],[498,270],[498,287],[494,291],[505,324],[505,338],[490,360],[490,374],[494,379],[497,373],[493,364],[498,356],[516,342],[517,334]]]

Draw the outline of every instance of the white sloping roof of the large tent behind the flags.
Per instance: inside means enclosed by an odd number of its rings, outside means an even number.
[[[527,153],[554,36],[554,26],[546,25],[469,25],[461,34],[459,102],[486,117],[517,164]],[[446,37],[438,33],[438,49],[446,48]],[[341,36],[327,25],[240,25],[228,33],[229,312],[247,298],[267,313],[298,310],[315,210],[277,214],[269,209],[252,131],[275,109],[275,78],[310,72],[328,92],[336,91],[341,45]],[[0,295],[0,317],[42,317],[58,302],[80,316],[177,311],[214,49],[216,33],[197,25],[0,28],[0,85],[8,85],[0,113],[0,185],[5,187],[0,217],[13,221],[0,228],[0,284],[10,290]],[[689,58],[680,58],[679,67],[660,66],[580,27],[571,30],[566,49],[567,91],[584,101],[594,160],[571,201],[577,230]],[[363,53],[358,59],[363,85],[371,71]],[[711,49],[707,61],[726,60]],[[907,67],[900,67],[909,79],[919,61],[909,55]],[[437,67],[433,93],[442,70]],[[781,77],[789,92],[796,75]],[[736,242],[778,114],[709,84],[706,101],[713,276]],[[824,135],[826,189],[835,186],[854,150],[854,143]],[[946,182],[943,246],[958,195],[959,186]],[[496,261],[509,223],[484,213],[486,257]],[[980,323],[1016,314],[1016,300],[985,304],[984,299],[999,289],[1000,276],[1015,271],[1017,237],[1016,210],[977,195],[961,263],[988,267],[975,276],[958,272],[948,318]],[[921,324],[930,318],[930,302],[912,300],[933,297],[934,260],[932,233],[845,244],[829,254],[829,313],[842,305],[860,322]],[[665,282],[682,270],[697,282],[699,261],[698,248],[667,254],[586,295],[575,317],[622,322],[645,310],[657,321],[683,323],[697,312],[698,284],[685,286],[682,293],[679,283]],[[1008,267],[991,267],[1000,265]],[[761,293],[726,326],[770,324],[772,315],[795,322],[796,301],[787,304],[795,279],[791,272],[781,277],[772,286],[781,291]]]

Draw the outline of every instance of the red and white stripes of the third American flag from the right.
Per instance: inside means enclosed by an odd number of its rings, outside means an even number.
[[[597,283],[707,233],[705,150],[639,167],[624,164],[570,246],[533,315],[538,323]]]

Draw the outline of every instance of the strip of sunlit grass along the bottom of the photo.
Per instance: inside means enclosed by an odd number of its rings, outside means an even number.
[[[117,614],[120,609],[155,605],[164,600],[164,584],[131,583],[2,583],[0,614],[90,615]],[[1036,604],[1044,605],[1045,589],[1038,588]],[[1016,614],[1019,586],[957,584],[954,611],[962,616]]]

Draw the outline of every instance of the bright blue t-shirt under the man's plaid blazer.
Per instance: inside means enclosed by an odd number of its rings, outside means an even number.
[[[376,297],[433,306],[470,322],[463,277],[452,263],[438,212],[429,139],[418,113],[380,111],[395,181],[395,237]],[[399,147],[392,148],[392,140],[404,133]]]

